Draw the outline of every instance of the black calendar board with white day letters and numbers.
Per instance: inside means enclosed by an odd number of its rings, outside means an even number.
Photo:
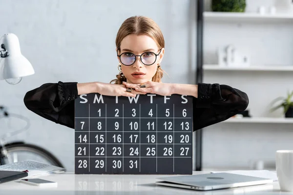
[[[192,174],[192,97],[75,99],[75,174]]]

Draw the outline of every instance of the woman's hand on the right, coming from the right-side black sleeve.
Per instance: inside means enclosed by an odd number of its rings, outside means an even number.
[[[145,84],[146,87],[141,88],[141,84],[132,84],[132,83],[123,82],[123,85],[125,85],[126,87],[135,89],[136,92],[141,92],[145,94],[146,93],[158,94],[161,96],[172,95],[172,84],[170,83],[147,81],[142,84]]]

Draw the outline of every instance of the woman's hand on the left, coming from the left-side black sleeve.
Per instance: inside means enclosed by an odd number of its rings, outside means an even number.
[[[97,93],[105,96],[126,96],[126,97],[136,97],[136,94],[146,94],[144,92],[139,92],[132,90],[131,93],[126,92],[127,87],[123,84],[110,84],[98,82]]]

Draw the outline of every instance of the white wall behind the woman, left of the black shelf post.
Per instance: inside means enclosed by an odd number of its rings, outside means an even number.
[[[194,11],[194,2],[189,0],[0,0],[0,35],[18,36],[21,52],[36,72],[14,86],[0,82],[0,104],[29,117],[31,123],[27,134],[11,140],[26,138],[74,170],[74,130],[28,111],[23,104],[25,93],[59,80],[109,82],[115,78],[115,36],[122,22],[134,15],[152,18],[163,31],[162,68],[170,76],[164,81],[194,83]],[[1,134],[7,131],[2,127]]]

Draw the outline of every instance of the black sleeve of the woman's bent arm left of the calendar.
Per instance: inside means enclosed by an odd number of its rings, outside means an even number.
[[[73,100],[77,97],[77,82],[59,81],[28,91],[23,101],[27,109],[41,117],[74,128]]]

